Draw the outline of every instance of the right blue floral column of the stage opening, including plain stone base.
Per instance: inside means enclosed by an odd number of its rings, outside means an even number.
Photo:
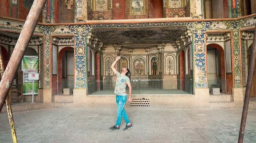
[[[209,88],[206,78],[206,30],[212,24],[211,21],[197,21],[188,23],[192,33],[193,63],[194,63],[194,94],[197,96],[197,104],[200,107],[209,107]]]

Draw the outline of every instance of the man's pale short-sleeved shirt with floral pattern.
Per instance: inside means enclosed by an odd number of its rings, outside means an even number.
[[[126,96],[126,86],[130,83],[129,77],[126,75],[122,76],[120,72],[116,72],[116,87],[115,87],[115,94]]]

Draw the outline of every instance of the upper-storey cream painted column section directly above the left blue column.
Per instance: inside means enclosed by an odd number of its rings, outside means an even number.
[[[76,1],[76,22],[86,22],[87,21],[87,0],[77,0]]]

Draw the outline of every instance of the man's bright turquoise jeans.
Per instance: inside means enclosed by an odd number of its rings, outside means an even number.
[[[127,96],[121,96],[121,95],[116,95],[116,103],[117,103],[117,120],[116,120],[116,125],[120,126],[122,117],[124,121],[128,124],[130,123],[128,116],[124,110],[124,105],[126,103]]]

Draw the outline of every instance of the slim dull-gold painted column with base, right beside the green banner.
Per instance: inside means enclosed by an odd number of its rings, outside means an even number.
[[[44,103],[51,103],[52,102],[52,89],[51,89],[51,78],[52,78],[52,71],[51,71],[51,34],[55,31],[55,26],[38,26],[40,31],[44,34],[44,61],[43,61],[43,71],[44,71],[44,81],[43,81],[43,93],[41,101]],[[40,52],[40,51],[39,51]],[[40,92],[40,91],[39,91]]]

